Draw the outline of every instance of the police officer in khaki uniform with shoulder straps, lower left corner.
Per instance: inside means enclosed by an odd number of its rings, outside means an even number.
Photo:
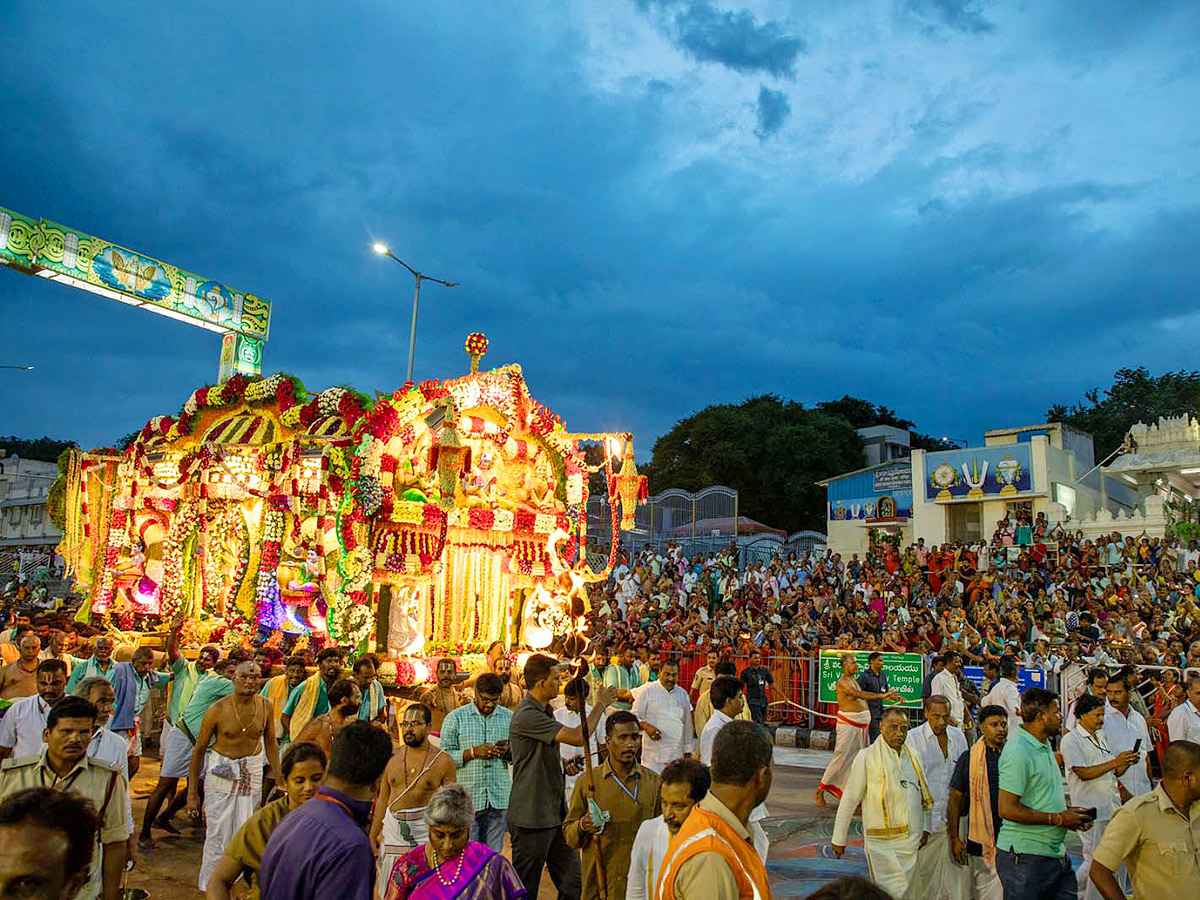
[[[26,787],[53,787],[78,794],[96,808],[103,853],[92,860],[88,882],[76,900],[119,900],[125,869],[125,775],[88,758],[96,728],[96,707],[83,697],[65,697],[50,707],[38,756],[6,760],[0,767],[0,800]]]

